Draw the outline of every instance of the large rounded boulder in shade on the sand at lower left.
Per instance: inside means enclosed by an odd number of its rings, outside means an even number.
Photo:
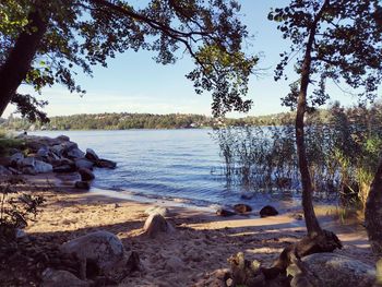
[[[87,263],[92,262],[104,275],[114,274],[127,264],[122,242],[114,234],[104,230],[70,240],[61,246],[61,251],[75,254],[77,259]]]

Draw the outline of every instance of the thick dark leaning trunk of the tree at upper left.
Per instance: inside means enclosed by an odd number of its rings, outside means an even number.
[[[0,116],[25,80],[46,29],[47,22],[39,12],[31,12],[25,31],[19,35],[5,62],[0,67]]]

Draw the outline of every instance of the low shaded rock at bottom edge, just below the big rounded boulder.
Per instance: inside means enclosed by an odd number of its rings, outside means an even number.
[[[88,287],[87,282],[81,280],[72,273],[63,270],[47,268],[43,272],[41,287]]]

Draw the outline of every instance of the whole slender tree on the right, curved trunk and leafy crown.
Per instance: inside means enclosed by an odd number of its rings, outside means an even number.
[[[374,21],[378,0],[291,0],[268,19],[279,23],[284,38],[291,40],[283,52],[275,80],[296,58],[299,80],[284,104],[296,108],[296,144],[302,182],[302,206],[308,234],[322,229],[312,204],[312,183],[305,145],[305,116],[330,98],[326,82],[348,85],[360,99],[373,99],[382,81],[381,29]],[[314,86],[308,94],[308,87]]]

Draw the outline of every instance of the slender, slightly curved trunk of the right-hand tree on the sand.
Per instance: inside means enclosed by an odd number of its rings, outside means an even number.
[[[309,172],[309,165],[305,145],[305,130],[303,130],[303,117],[307,110],[307,94],[308,85],[310,82],[310,70],[311,70],[311,52],[314,44],[315,31],[322,14],[330,4],[329,0],[325,0],[319,13],[315,15],[313,23],[309,28],[309,38],[307,43],[306,52],[303,56],[303,62],[301,67],[301,79],[300,79],[300,91],[298,94],[297,101],[297,113],[296,113],[296,145],[297,145],[297,156],[298,166],[301,175],[302,183],[302,208],[306,219],[306,225],[309,236],[315,236],[322,232],[319,220],[317,219],[314,207],[313,207],[313,189],[312,181]]]

